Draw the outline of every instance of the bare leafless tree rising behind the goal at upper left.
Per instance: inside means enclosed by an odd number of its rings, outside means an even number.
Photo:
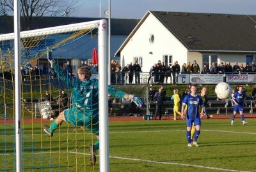
[[[76,11],[77,2],[78,0],[20,0],[20,17],[24,18],[22,30],[30,29],[33,17],[71,15]],[[0,15],[13,16],[13,0],[0,0]]]

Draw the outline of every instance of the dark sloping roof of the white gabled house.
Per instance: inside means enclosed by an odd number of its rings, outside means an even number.
[[[256,16],[150,11],[188,50],[256,52]]]

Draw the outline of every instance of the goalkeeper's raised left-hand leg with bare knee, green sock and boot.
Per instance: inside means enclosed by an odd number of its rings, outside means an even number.
[[[62,124],[62,122],[67,122],[65,119],[64,111],[61,111],[60,115],[58,115],[58,117],[52,121],[50,126],[47,124],[43,126],[44,132],[49,137],[52,137],[53,132]]]

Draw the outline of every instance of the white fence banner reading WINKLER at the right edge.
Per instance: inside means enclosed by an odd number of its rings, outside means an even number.
[[[256,75],[227,75],[227,83],[256,83]]]

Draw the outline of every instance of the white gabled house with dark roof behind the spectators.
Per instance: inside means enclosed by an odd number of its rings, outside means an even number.
[[[139,60],[147,72],[157,61],[166,67],[194,60],[251,63],[256,60],[256,17],[147,11],[116,52],[122,68]]]

